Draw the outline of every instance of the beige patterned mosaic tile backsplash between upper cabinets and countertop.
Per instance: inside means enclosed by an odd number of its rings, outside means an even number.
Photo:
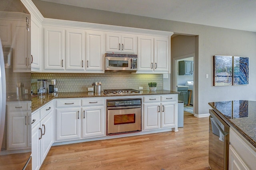
[[[157,83],[157,90],[163,89],[162,74],[131,74],[122,72],[106,73],[32,73],[31,89],[37,93],[37,79],[56,79],[58,92],[88,91],[93,82],[101,82],[101,89],[139,89],[148,90],[149,82]]]

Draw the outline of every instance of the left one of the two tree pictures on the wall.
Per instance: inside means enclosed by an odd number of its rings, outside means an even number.
[[[232,85],[233,57],[228,55],[214,55],[214,86]]]

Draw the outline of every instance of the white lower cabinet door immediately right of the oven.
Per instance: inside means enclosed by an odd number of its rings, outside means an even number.
[[[144,104],[144,130],[160,128],[160,103]]]

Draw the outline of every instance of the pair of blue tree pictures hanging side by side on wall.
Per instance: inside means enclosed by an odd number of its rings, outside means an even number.
[[[249,57],[214,55],[214,86],[248,85]]]

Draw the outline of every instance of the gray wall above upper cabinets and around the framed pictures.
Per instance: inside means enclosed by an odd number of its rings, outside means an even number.
[[[118,14],[101,10],[79,8],[33,0],[46,18],[75,20],[98,24],[171,31],[176,34],[196,35],[195,65],[195,114],[208,113],[208,102],[227,100],[256,100],[256,67],[250,67],[250,85],[213,86],[213,55],[250,57],[250,66],[256,63],[256,32],[216,28],[156,18]],[[209,78],[206,79],[205,75]],[[166,83],[164,81],[164,83]],[[164,85],[165,86],[165,85]],[[248,95],[249,94],[249,95]]]

